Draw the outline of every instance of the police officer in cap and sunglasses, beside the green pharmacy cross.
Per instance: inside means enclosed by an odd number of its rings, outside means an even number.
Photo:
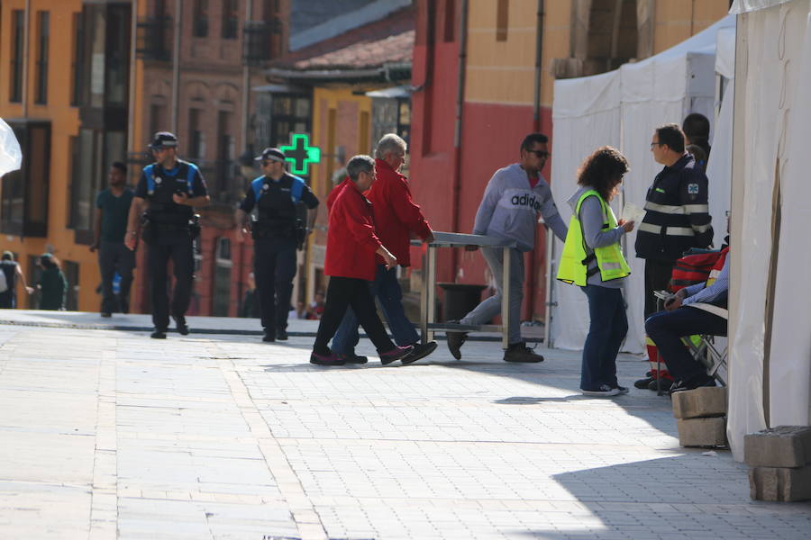
[[[284,340],[296,276],[296,247],[313,231],[318,199],[304,180],[287,173],[285,154],[278,148],[265,148],[256,160],[264,174],[251,182],[236,211],[236,238],[242,241],[251,229],[253,274],[265,332],[262,341]],[[302,204],[307,208],[306,225],[299,218]],[[254,208],[259,216],[250,220]]]

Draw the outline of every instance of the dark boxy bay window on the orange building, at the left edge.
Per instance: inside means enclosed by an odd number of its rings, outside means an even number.
[[[50,122],[9,121],[23,150],[23,167],[3,176],[0,230],[44,237],[48,232]]]

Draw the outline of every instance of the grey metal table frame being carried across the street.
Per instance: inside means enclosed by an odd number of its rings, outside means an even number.
[[[412,240],[411,244],[413,246],[420,246],[422,242]],[[500,332],[502,347],[505,349],[509,347],[510,248],[515,247],[515,245],[515,241],[505,241],[501,238],[478,234],[433,231],[433,242],[428,244],[423,261],[423,293],[420,299],[420,333],[423,343],[433,339],[434,330],[459,330],[463,332]],[[465,246],[504,248],[504,279],[501,289],[501,325],[436,322],[436,249],[438,247]]]

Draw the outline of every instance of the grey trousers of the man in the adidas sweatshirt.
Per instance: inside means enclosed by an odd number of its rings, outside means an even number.
[[[504,283],[504,247],[482,247],[481,254],[496,279],[497,293],[470,311],[461,324],[488,324],[501,314],[502,284]],[[521,302],[524,301],[524,253],[515,248],[510,249],[510,345],[520,343],[521,339]]]

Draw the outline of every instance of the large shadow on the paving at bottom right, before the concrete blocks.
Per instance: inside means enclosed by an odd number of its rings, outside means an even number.
[[[503,532],[561,540],[808,537],[811,503],[789,511],[785,505],[752,501],[745,465],[701,450],[685,452],[553,475],[580,503],[580,509],[569,509],[570,527]]]

